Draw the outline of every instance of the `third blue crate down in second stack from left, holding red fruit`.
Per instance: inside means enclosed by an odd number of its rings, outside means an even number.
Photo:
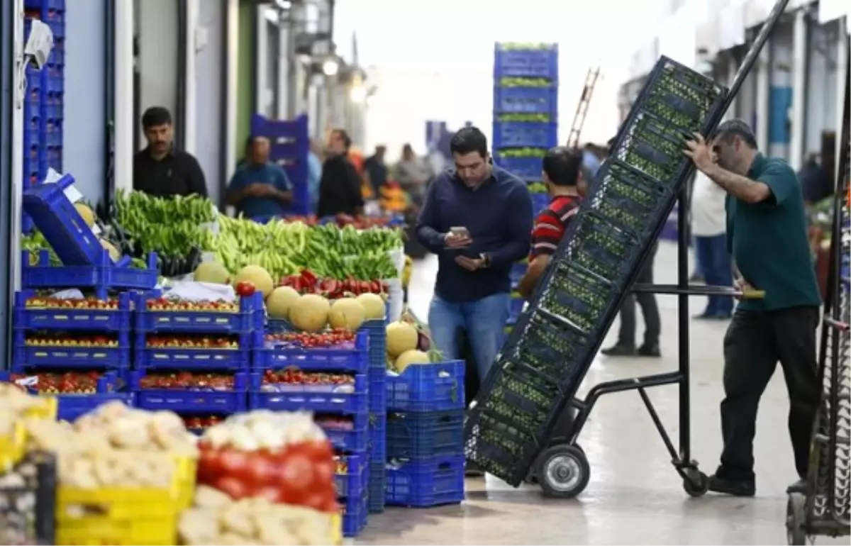
[[[236,413],[247,406],[247,373],[138,370],[130,374],[135,406],[146,410]]]

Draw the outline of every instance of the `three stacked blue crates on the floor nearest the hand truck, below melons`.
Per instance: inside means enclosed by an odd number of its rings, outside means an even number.
[[[464,500],[463,361],[387,377],[387,498],[427,508]]]

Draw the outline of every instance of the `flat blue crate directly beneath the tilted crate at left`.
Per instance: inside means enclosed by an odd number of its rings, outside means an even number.
[[[146,269],[129,267],[129,258],[118,264],[111,264],[106,254],[101,259],[104,262],[100,265],[53,266],[49,264],[48,252],[43,250],[38,253],[36,264],[31,265],[30,253],[25,250],[21,258],[20,283],[25,288],[93,288],[100,299],[106,299],[110,290],[151,290],[157,286],[155,253],[148,255]]]

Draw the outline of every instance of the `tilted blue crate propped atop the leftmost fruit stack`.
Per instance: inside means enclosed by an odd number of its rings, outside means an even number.
[[[100,265],[106,250],[65,195],[73,183],[66,174],[55,184],[31,186],[24,191],[23,208],[62,264]]]

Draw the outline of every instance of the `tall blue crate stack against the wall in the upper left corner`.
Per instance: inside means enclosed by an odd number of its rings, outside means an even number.
[[[42,71],[26,67],[24,100],[23,185],[42,181],[48,168],[62,172],[62,128],[65,117],[65,0],[25,0],[24,37],[32,20],[41,20],[54,35],[54,48]],[[32,228],[24,214],[23,232]]]

